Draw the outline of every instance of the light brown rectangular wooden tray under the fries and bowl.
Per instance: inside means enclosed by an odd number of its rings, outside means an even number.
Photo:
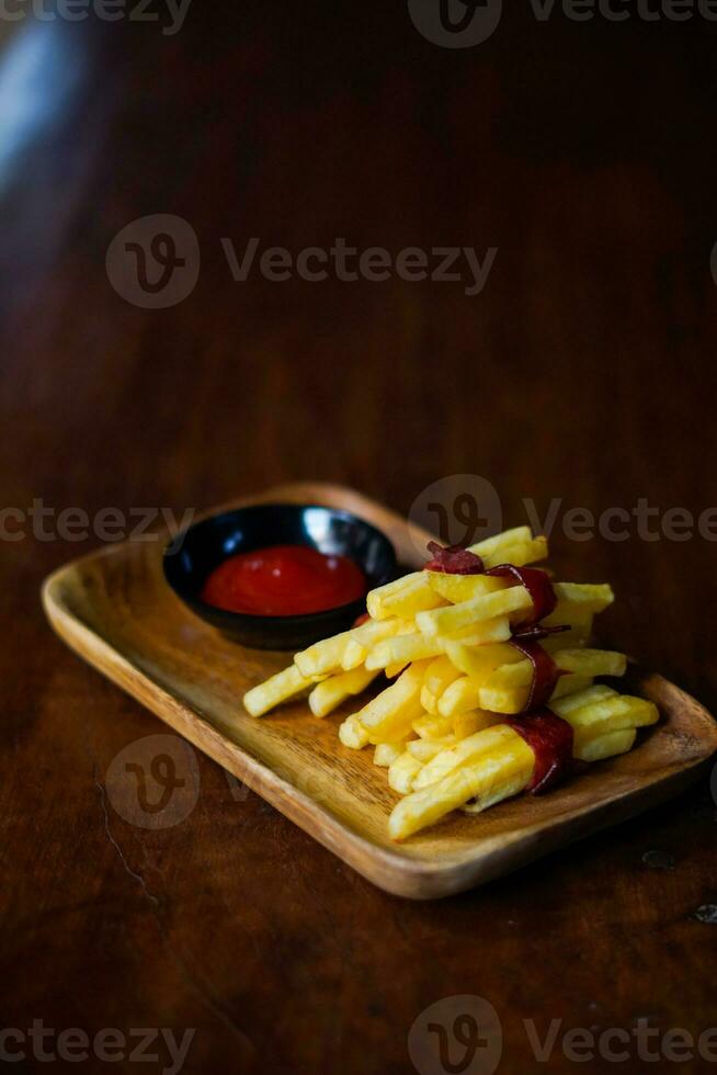
[[[387,533],[400,561],[417,563],[406,520],[350,489],[293,484],[241,502],[261,500],[346,508]],[[351,706],[323,721],[306,702],[248,716],[244,691],[291,657],[244,649],[196,619],[164,582],[162,547],[127,542],[56,572],[43,587],[50,623],[81,657],[387,892],[433,898],[489,881],[678,794],[717,749],[717,726],[693,698],[661,676],[638,675],[663,720],[630,754],[543,797],[476,817],[453,814],[391,844],[386,823],[398,796],[386,770],[337,736]]]

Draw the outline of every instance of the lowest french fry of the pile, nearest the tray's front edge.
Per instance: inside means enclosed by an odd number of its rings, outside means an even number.
[[[473,762],[459,766],[436,783],[419,788],[420,778],[428,768],[423,767],[413,781],[417,790],[402,799],[391,812],[388,821],[391,839],[406,839],[469,800],[477,800],[485,810],[527,787],[535,756],[516,732],[507,725],[503,727],[510,735],[505,736],[501,746]],[[489,728],[478,734],[488,735],[491,731]]]

